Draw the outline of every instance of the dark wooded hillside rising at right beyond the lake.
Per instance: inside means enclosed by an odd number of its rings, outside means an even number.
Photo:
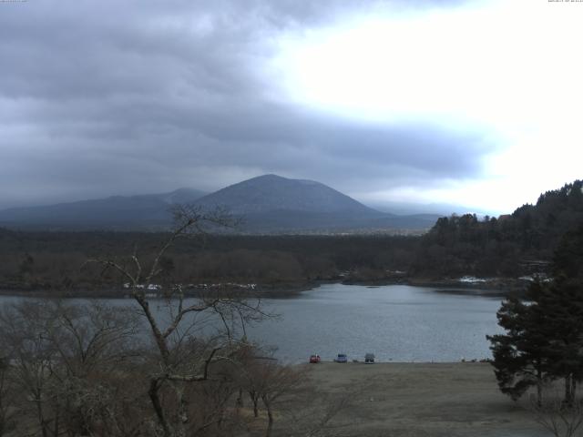
[[[540,271],[563,234],[583,223],[583,182],[542,194],[512,215],[438,219],[422,239],[413,270],[429,276],[518,276]]]

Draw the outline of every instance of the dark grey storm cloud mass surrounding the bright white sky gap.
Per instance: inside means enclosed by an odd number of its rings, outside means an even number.
[[[357,123],[268,97],[277,84],[261,66],[282,31],[371,4],[0,5],[0,207],[267,172],[349,192],[476,175],[479,133]]]

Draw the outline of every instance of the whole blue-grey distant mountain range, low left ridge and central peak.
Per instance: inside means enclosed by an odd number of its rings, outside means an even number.
[[[180,188],[161,194],[122,197],[0,211],[0,226],[20,229],[159,230],[171,226],[169,208],[189,203],[222,207],[252,233],[370,232],[428,229],[438,214],[398,216],[368,208],[319,182],[264,175],[211,194]]]

